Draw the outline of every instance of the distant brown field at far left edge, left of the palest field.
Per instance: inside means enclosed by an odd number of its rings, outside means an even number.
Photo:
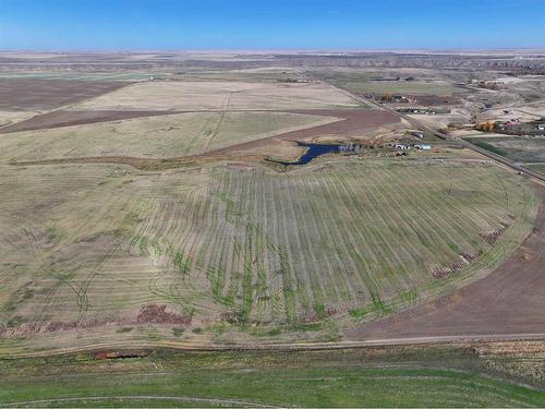
[[[0,80],[0,109],[47,110],[128,85],[122,82]]]

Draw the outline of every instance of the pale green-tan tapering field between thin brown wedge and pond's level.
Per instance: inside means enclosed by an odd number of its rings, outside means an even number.
[[[290,112],[162,115],[3,134],[0,158],[25,161],[106,156],[183,157],[338,120]]]

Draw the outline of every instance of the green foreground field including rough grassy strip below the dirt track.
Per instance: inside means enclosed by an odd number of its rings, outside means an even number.
[[[526,351],[521,350],[523,342],[518,344],[317,351],[141,349],[124,351],[140,358],[117,360],[101,359],[104,352],[0,358],[0,402],[10,407],[542,407],[543,344],[526,345]]]

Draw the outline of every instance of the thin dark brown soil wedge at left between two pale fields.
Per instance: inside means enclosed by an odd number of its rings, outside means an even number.
[[[50,128],[83,125],[119,121],[123,119],[156,117],[177,113],[174,111],[55,111],[36,116],[26,121],[0,129],[0,133],[36,131]]]

